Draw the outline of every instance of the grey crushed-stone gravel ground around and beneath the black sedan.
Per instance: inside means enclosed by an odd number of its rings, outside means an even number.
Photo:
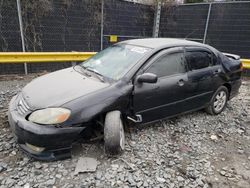
[[[13,95],[37,75],[0,77],[0,187],[250,187],[250,81],[218,116],[203,111],[126,131],[126,149],[103,155],[103,143],[76,144],[72,159],[39,162],[23,154],[7,122]],[[80,157],[96,172],[74,174]]]

